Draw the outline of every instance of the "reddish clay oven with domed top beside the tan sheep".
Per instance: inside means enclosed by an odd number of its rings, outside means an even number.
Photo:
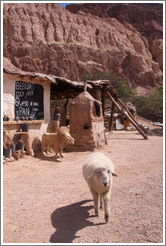
[[[75,139],[74,150],[94,150],[105,144],[101,102],[87,91],[71,101],[70,133]]]

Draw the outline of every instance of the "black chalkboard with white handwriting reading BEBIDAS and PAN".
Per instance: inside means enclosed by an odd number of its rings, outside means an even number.
[[[43,86],[23,81],[15,84],[15,117],[44,119]]]

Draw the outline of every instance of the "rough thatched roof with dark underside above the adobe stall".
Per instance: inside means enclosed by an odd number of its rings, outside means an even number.
[[[19,68],[16,68],[7,58],[3,59],[3,72],[11,76],[17,76],[22,78],[29,78],[30,82],[49,82],[51,83],[51,99],[58,98],[73,98],[87,87],[88,91],[91,91],[93,87],[100,87],[106,81],[71,81],[64,77],[58,77],[54,75],[46,75],[42,73],[26,72]]]

